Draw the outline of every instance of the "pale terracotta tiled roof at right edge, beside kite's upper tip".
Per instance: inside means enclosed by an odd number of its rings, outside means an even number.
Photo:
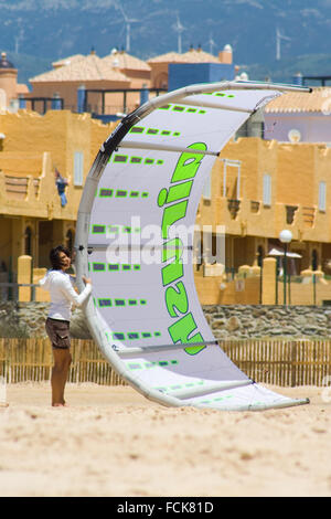
[[[265,112],[275,113],[298,113],[298,112],[330,112],[331,88],[313,88],[311,94],[305,92],[289,92],[276,99],[273,99],[265,108]]]

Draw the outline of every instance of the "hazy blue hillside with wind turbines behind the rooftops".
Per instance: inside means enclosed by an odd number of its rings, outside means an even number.
[[[104,56],[129,43],[142,59],[178,51],[179,22],[183,52],[202,45],[216,54],[229,43],[252,78],[288,81],[298,70],[331,74],[331,0],[0,0],[0,9],[1,47],[20,81],[92,47]],[[286,36],[280,60],[277,28]]]

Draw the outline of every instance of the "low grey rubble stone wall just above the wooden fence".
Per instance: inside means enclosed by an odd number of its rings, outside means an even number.
[[[45,336],[49,303],[0,301],[0,337]],[[205,305],[205,317],[217,339],[331,336],[331,308],[322,306]],[[82,310],[73,311],[72,336],[90,338]]]

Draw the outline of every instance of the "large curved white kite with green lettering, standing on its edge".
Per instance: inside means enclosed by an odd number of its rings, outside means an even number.
[[[90,332],[113,368],[166,405],[263,410],[307,403],[255,383],[222,351],[193,277],[195,214],[235,131],[281,85],[224,82],[156,97],[104,142],[76,232],[77,278],[92,277]]]

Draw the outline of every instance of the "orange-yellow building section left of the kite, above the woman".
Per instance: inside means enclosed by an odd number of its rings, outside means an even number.
[[[0,115],[6,135],[0,152],[0,266],[17,273],[18,257],[29,254],[33,267],[49,266],[49,252],[74,241],[77,210],[93,160],[115,125],[89,114],[50,110],[45,116],[19,110]],[[74,155],[83,153],[83,182],[75,184]],[[61,205],[55,168],[68,180]]]

